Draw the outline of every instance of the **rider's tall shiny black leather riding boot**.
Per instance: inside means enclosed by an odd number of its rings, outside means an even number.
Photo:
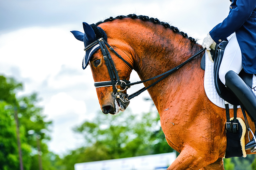
[[[250,116],[251,120],[254,122],[254,124],[256,124],[256,96],[254,95],[252,89],[239,77],[237,73],[232,70],[226,73],[225,80],[228,89],[231,90],[238,98],[240,104]],[[251,152],[256,151],[256,143],[254,138],[245,145],[245,149],[251,149]]]

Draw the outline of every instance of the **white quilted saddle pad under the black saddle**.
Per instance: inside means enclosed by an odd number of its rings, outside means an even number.
[[[213,67],[214,63],[210,61],[208,53],[205,51],[205,72],[204,72],[204,90],[211,102],[215,105],[225,108],[225,101],[219,97],[214,84],[213,77]],[[253,86],[252,90],[256,95],[256,76],[253,74]],[[240,106],[238,106],[240,107]],[[229,108],[233,108],[233,105],[229,104]]]

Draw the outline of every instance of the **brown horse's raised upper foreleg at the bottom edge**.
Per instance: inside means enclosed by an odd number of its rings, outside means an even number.
[[[207,156],[207,159],[205,159],[206,156],[207,155],[198,153],[198,151],[192,147],[186,146],[167,170],[199,170],[203,167],[207,167],[209,164],[215,162],[218,159],[217,154],[212,154],[211,159],[209,159],[209,156]],[[223,170],[223,168],[219,168],[218,170]]]

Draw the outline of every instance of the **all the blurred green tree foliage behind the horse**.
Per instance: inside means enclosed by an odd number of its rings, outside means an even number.
[[[74,170],[75,163],[172,152],[160,127],[158,113],[134,115],[129,111],[104,115],[74,128],[84,136],[84,145],[60,158],[49,152],[45,141],[51,121],[45,121],[37,94],[16,97],[22,83],[0,75],[0,170],[18,170],[16,122],[17,109],[24,170],[38,170],[39,135],[43,170]],[[225,170],[256,170],[255,155],[224,159]]]

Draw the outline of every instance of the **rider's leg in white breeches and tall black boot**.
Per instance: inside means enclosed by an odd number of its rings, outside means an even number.
[[[256,125],[256,96],[251,88],[238,76],[242,70],[242,54],[236,34],[233,33],[227,39],[229,43],[224,51],[223,60],[219,68],[219,78],[238,97],[247,114]],[[246,149],[254,147],[256,147],[254,140],[251,140],[245,146]]]

